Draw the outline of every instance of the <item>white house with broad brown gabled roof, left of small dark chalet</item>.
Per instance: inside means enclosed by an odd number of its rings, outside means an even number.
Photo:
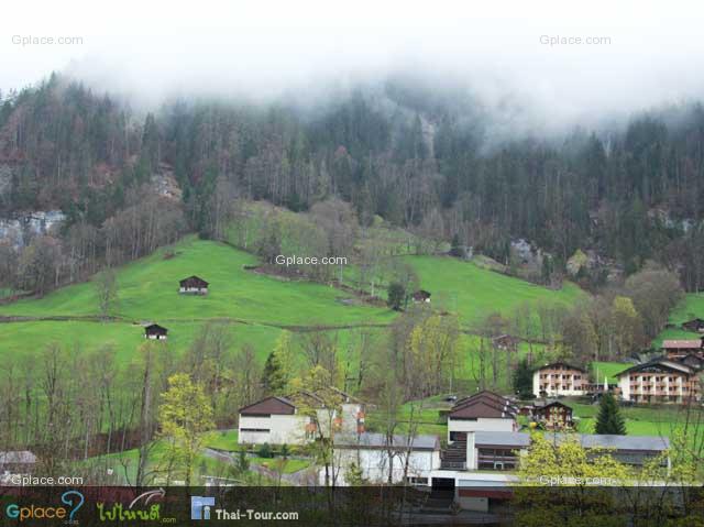
[[[509,399],[486,389],[464,397],[448,414],[448,442],[463,441],[470,431],[515,431],[517,414]]]

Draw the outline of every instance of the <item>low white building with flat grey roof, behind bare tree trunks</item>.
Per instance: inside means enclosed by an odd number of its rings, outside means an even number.
[[[370,483],[408,483],[429,485],[430,474],[440,468],[440,440],[438,436],[384,433],[336,436],[336,484],[345,485],[346,474],[355,464],[362,477]],[[321,471],[321,482],[324,473]]]

